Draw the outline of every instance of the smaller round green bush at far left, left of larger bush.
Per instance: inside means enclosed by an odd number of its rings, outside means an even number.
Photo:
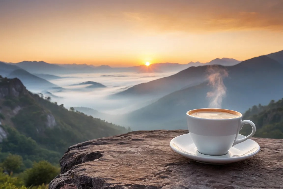
[[[18,171],[23,165],[23,158],[19,155],[9,154],[3,161],[2,166],[5,171],[11,175],[12,172]]]

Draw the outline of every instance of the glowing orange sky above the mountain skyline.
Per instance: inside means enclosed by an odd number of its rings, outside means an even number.
[[[282,0],[0,0],[0,60],[110,66],[283,50]]]

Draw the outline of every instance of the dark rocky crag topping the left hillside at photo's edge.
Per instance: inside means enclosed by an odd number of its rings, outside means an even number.
[[[0,99],[6,96],[19,97],[20,94],[29,92],[18,78],[7,79],[0,77]]]

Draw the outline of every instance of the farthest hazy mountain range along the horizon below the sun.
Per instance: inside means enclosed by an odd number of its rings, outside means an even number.
[[[207,63],[190,62],[188,64],[179,63],[155,63],[150,66],[139,65],[132,67],[112,68],[108,65],[93,66],[87,64],[50,64],[44,61],[22,61],[18,63],[8,63],[9,65],[18,66],[32,74],[71,74],[71,73],[107,73],[107,72],[136,72],[136,73],[155,73],[155,72],[176,72],[191,66],[200,65],[235,65],[241,61],[231,58],[216,58]]]

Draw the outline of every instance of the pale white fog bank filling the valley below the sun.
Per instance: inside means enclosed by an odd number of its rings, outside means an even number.
[[[109,98],[109,95],[126,90],[136,84],[149,82],[158,78],[175,74],[167,73],[87,73],[87,74],[61,74],[60,79],[49,80],[50,82],[64,88],[63,90],[48,90],[53,95],[52,101],[64,104],[65,107],[88,107],[99,112],[108,114],[123,114],[135,109],[139,109],[152,101],[141,98]],[[72,78],[65,78],[72,77]],[[85,88],[87,85],[75,85],[86,81],[101,83],[107,88]],[[44,93],[44,92],[43,92]],[[48,94],[46,94],[48,96]]]

